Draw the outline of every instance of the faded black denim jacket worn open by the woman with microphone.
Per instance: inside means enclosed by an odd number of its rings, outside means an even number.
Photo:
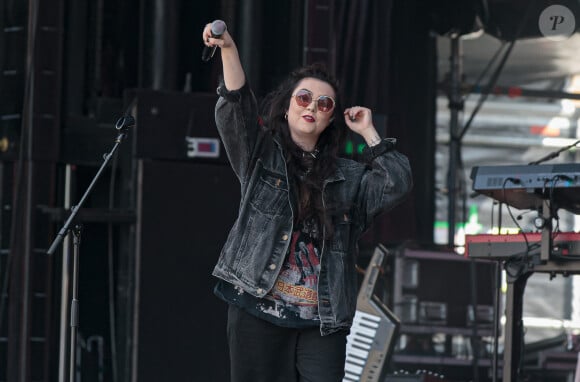
[[[288,251],[293,211],[281,146],[258,122],[250,87],[218,88],[215,119],[230,164],[241,184],[236,219],[213,275],[256,297],[274,285]],[[335,232],[323,240],[318,282],[322,335],[349,329],[358,294],[357,241],[373,218],[398,204],[411,190],[407,158],[385,139],[366,149],[368,164],[339,159],[336,173],[324,181],[324,195],[345,206],[334,218]]]

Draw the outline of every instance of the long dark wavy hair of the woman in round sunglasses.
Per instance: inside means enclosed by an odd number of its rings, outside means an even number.
[[[316,158],[305,154],[292,140],[285,114],[290,107],[291,96],[304,78],[315,78],[328,83],[335,93],[335,107],[328,127],[320,134],[316,144]],[[345,125],[342,119],[342,107],[339,97],[338,81],[328,72],[323,64],[312,64],[294,70],[269,93],[262,105],[264,125],[276,137],[280,138],[282,149],[288,165],[288,178],[291,189],[295,190],[293,201],[295,224],[302,224],[303,229],[319,239],[320,229],[324,226],[326,238],[333,235],[332,216],[336,206],[328,195],[322,201],[324,179],[336,171],[339,152],[345,138]]]

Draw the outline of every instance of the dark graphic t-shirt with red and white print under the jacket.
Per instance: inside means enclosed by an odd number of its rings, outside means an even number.
[[[285,327],[318,326],[318,275],[320,253],[310,235],[292,234],[290,249],[272,289],[263,298],[220,280],[215,293],[250,314]]]

